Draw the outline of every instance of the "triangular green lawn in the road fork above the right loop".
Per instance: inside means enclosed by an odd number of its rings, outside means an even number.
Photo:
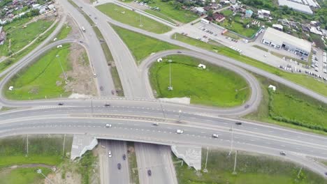
[[[142,59],[145,59],[145,57],[149,56],[153,52],[180,48],[175,45],[170,45],[169,43],[150,38],[149,36],[123,29],[119,26],[111,26],[118,33],[120,38],[122,38],[127,47],[129,47],[129,50],[135,57],[137,64],[140,64]]]

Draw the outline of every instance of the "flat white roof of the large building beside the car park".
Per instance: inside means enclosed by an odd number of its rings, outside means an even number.
[[[311,52],[311,43],[307,40],[296,38],[295,36],[291,36],[287,33],[278,31],[270,27],[268,27],[268,29],[265,31],[263,39],[270,40],[274,43],[277,43],[278,45],[287,43],[289,45],[297,46],[298,48],[303,49],[306,52]]]

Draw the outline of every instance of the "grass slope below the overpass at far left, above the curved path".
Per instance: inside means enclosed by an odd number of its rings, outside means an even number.
[[[71,136],[66,136],[64,153],[70,153],[72,141]],[[27,155],[26,136],[0,139],[0,168],[14,164],[58,165],[64,160],[63,143],[64,135],[29,136],[29,154]]]

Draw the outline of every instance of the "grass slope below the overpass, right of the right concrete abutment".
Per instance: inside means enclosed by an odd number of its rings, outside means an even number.
[[[202,151],[202,168],[205,168],[207,151]],[[232,174],[235,153],[228,157],[226,151],[209,151],[208,173],[196,172],[187,168],[187,164],[175,164],[178,183],[182,184],[289,184],[289,183],[326,183],[326,180],[314,172],[303,168],[298,177],[300,166],[278,160],[266,155],[238,152],[236,173]]]

